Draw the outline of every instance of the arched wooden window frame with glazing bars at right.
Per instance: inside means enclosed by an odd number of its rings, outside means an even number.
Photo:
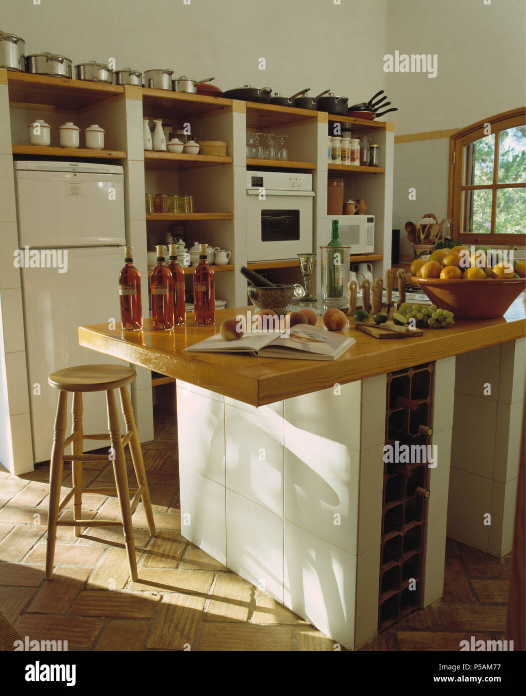
[[[486,136],[484,129],[486,125],[491,124],[491,133],[495,134],[495,158],[493,159],[493,182],[482,186],[464,186],[462,182],[464,171],[464,148]],[[447,190],[447,216],[452,222],[451,235],[453,239],[462,238],[463,242],[469,244],[495,244],[500,243],[504,246],[515,244],[516,246],[526,246],[526,234],[521,235],[516,232],[508,232],[499,234],[497,232],[461,232],[461,209],[462,209],[462,191],[490,189],[493,193],[493,202],[491,206],[491,221],[492,226],[495,220],[495,209],[497,206],[496,191],[498,189],[510,188],[525,188],[526,184],[499,184],[498,179],[498,161],[499,161],[499,133],[502,130],[514,128],[516,126],[526,124],[526,110],[511,109],[498,113],[491,118],[473,123],[467,128],[459,130],[449,138],[449,185]]]

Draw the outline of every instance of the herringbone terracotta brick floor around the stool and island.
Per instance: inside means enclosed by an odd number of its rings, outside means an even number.
[[[177,427],[157,409],[143,444],[158,535],[143,505],[133,517],[139,580],[129,578],[118,528],[58,528],[54,579],[44,579],[49,463],[31,474],[0,471],[0,609],[30,640],[67,640],[72,650],[334,651],[335,642],[181,535]],[[129,481],[134,470],[127,452]],[[64,467],[63,486],[71,484]],[[115,519],[111,464],[84,466],[83,517]],[[63,489],[65,494],[66,489]],[[63,511],[72,516],[72,501]],[[502,640],[509,556],[497,559],[447,539],[442,599],[413,612],[367,651],[454,650]]]

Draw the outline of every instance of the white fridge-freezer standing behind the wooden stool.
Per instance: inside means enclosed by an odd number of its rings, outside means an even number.
[[[51,455],[58,392],[55,370],[122,362],[79,346],[78,327],[115,320],[124,264],[122,167],[17,161],[15,187],[33,459]],[[71,401],[70,401],[71,403]],[[68,424],[69,425],[69,424]],[[83,429],[107,432],[104,393],[83,399]],[[86,441],[84,450],[100,447]]]

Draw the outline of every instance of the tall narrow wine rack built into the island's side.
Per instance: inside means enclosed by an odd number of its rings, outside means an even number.
[[[426,363],[387,375],[385,445],[431,444],[434,367]],[[425,461],[384,461],[378,631],[420,606],[427,498]]]

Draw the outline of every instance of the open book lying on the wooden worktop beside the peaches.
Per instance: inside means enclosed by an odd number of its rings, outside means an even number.
[[[251,353],[264,358],[298,358],[299,360],[337,360],[356,343],[341,333],[325,331],[319,326],[296,324],[285,331],[247,331],[241,338],[225,341],[221,333],[194,343],[183,352]]]

